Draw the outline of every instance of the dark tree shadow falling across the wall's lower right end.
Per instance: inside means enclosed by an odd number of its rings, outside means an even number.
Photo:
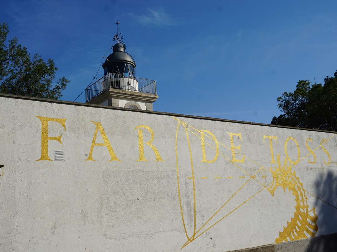
[[[318,216],[317,225],[320,235],[336,233],[337,226],[337,175],[332,171],[323,172],[315,182],[315,212]],[[307,195],[309,197],[310,195]],[[336,251],[336,237],[326,236],[322,239],[311,239],[307,252]]]

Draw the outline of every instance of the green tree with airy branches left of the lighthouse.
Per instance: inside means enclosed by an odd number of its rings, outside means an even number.
[[[58,99],[70,82],[65,77],[56,81],[54,61],[47,62],[41,55],[35,54],[31,59],[26,47],[18,44],[18,38],[8,40],[7,23],[0,23],[0,93],[25,95],[49,99]]]

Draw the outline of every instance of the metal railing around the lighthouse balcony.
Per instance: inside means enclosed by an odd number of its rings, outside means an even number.
[[[86,102],[109,88],[145,94],[157,94],[156,81],[117,73],[108,73],[85,89]]]

